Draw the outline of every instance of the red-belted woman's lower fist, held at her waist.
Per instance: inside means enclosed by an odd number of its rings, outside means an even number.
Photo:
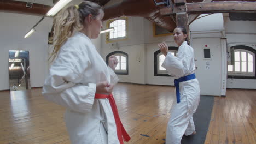
[[[96,93],[99,94],[111,94],[113,91],[114,85],[108,83],[108,81],[102,81],[96,83]]]

